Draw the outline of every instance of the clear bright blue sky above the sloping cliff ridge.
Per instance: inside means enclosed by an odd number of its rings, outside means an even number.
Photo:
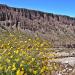
[[[0,4],[75,17],[75,0],[0,0]]]

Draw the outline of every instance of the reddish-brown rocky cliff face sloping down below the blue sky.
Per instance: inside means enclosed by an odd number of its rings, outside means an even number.
[[[54,47],[75,47],[75,18],[0,4],[0,28],[36,33]]]

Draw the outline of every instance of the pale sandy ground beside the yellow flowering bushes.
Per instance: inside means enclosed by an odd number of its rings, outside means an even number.
[[[56,60],[51,62],[61,63],[64,66],[62,71],[56,71],[52,75],[75,75],[75,50],[69,51],[57,51],[55,53],[58,55]]]

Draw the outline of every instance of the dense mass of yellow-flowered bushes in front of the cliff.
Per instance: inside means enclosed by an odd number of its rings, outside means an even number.
[[[21,32],[0,33],[0,75],[44,75],[55,70],[55,64],[48,66],[48,57],[54,56],[49,54],[51,47],[47,40]]]

